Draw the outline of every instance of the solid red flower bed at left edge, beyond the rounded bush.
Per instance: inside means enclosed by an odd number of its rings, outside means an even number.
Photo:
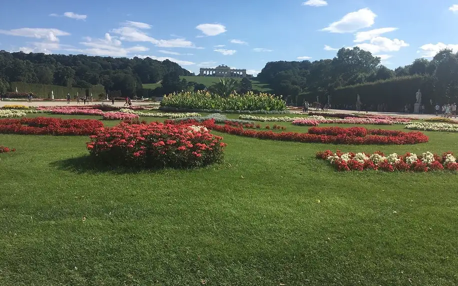
[[[0,133],[31,135],[90,135],[103,123],[94,119],[61,119],[49,117],[1,119]]]

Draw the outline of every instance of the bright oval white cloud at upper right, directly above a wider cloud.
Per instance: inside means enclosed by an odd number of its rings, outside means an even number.
[[[370,27],[375,22],[377,15],[369,8],[359,9],[344,15],[340,20],[331,23],[323,31],[332,33],[349,33],[356,30]]]

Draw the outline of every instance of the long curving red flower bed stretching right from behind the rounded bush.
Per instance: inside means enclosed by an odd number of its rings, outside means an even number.
[[[165,121],[172,123],[172,120]],[[187,124],[197,124],[194,120],[182,121]],[[224,124],[218,125],[213,119],[200,123],[216,131],[253,137],[259,139],[298,141],[309,143],[333,144],[417,144],[427,142],[429,138],[421,132],[402,132],[396,130],[371,130],[363,127],[311,127],[312,132],[273,132],[245,129],[243,125]]]

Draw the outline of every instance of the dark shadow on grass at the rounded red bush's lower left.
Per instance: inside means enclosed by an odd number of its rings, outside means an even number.
[[[144,169],[127,166],[113,166],[94,160],[89,155],[72,157],[68,159],[58,160],[50,163],[51,166],[59,170],[72,171],[76,173],[103,173],[111,172],[117,174],[138,173],[138,172],[154,172],[159,169]]]

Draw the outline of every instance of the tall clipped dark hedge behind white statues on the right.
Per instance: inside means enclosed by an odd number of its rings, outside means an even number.
[[[380,80],[376,82],[348,85],[338,87],[330,92],[331,104],[356,104],[357,94],[360,95],[361,102],[367,108],[373,105],[376,109],[378,104],[387,104],[387,111],[399,112],[403,110],[405,104],[410,103],[413,109],[415,103],[415,93],[421,89],[421,103],[426,109],[430,109],[429,99],[440,100],[434,97],[432,80],[427,76],[404,76],[395,77],[388,80]],[[303,101],[315,102],[316,96],[319,102],[327,102],[327,93],[324,91],[305,92],[296,96],[296,105],[301,106]]]

